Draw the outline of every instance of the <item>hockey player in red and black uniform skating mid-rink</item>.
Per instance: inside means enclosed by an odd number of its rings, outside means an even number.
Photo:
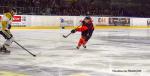
[[[81,27],[71,30],[71,33],[81,32],[81,38],[78,42],[77,49],[79,49],[80,46],[86,48],[86,44],[88,40],[91,38],[93,31],[94,26],[91,17],[85,17],[84,20],[82,21]]]

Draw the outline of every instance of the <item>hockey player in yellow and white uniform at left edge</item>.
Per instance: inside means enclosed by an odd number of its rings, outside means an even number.
[[[16,9],[11,9],[9,12],[4,13],[2,20],[0,22],[1,23],[0,34],[6,39],[3,46],[0,47],[0,52],[10,53],[8,48],[13,42],[13,35],[11,34],[10,29],[11,29],[11,22],[15,14]]]

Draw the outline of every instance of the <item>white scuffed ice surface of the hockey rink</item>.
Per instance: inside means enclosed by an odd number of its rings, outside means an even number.
[[[70,30],[12,30],[18,43],[0,54],[0,76],[149,76],[150,29],[95,30],[87,48]],[[4,39],[0,36],[0,45]]]

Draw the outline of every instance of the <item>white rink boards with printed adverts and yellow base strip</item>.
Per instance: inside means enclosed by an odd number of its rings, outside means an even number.
[[[2,15],[0,15],[0,19]],[[84,16],[40,16],[40,15],[16,15],[13,28],[25,29],[54,29],[61,27],[75,27],[80,25]],[[92,16],[97,29],[100,28],[149,28],[150,18],[136,17],[99,17]]]

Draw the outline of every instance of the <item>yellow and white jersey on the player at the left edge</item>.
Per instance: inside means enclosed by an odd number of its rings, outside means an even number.
[[[13,20],[13,16],[11,15],[11,13],[4,13],[1,20],[2,30],[8,29],[9,24],[11,24],[12,20]]]

